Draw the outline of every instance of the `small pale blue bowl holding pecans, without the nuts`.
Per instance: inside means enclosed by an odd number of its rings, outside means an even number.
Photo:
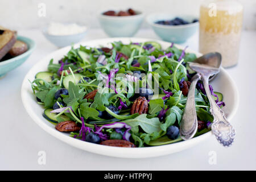
[[[108,16],[105,11],[98,15],[101,27],[110,37],[130,37],[133,36],[141,27],[144,14],[135,11],[137,15],[132,16]]]

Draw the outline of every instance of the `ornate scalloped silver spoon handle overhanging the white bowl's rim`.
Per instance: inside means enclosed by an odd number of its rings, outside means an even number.
[[[204,76],[202,76],[202,78],[204,89],[210,102],[210,113],[214,118],[212,123],[212,132],[217,138],[218,142],[220,142],[223,146],[228,147],[233,143],[236,132],[233,126],[227,121],[224,111],[222,111],[213,100],[209,89],[209,78]]]

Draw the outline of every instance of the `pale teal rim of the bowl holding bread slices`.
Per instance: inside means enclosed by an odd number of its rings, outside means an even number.
[[[34,51],[34,49],[36,48],[35,41],[30,39],[30,38],[27,38],[25,36],[18,36],[17,40],[25,42],[27,44],[27,46],[28,46],[28,50],[26,52],[22,53],[19,56],[13,57],[13,58],[5,60],[5,61],[1,61],[0,62],[0,66],[5,65],[5,64],[9,64],[9,63],[13,63],[16,60],[19,60],[19,59],[22,59],[22,58],[24,58],[26,56],[29,56]]]

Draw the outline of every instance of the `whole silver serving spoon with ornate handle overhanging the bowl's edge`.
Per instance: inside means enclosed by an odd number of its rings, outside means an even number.
[[[210,102],[210,113],[214,118],[212,132],[216,136],[218,142],[223,146],[230,146],[234,141],[236,133],[233,126],[227,121],[224,111],[222,111],[213,100],[209,89],[209,77],[220,72],[220,65],[221,54],[218,52],[208,53],[207,55],[201,56],[195,62],[189,63],[189,67],[197,72],[203,80],[204,89]],[[195,94],[193,96],[195,97]],[[191,109],[195,110],[195,107]]]

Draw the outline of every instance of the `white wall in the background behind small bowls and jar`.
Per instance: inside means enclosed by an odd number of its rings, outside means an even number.
[[[154,12],[199,16],[200,3],[205,0],[0,0],[0,25],[16,28],[44,27],[47,23],[77,22],[92,28],[100,27],[97,15],[104,10],[132,7],[145,15]],[[238,0],[244,7],[243,26],[256,29],[256,0]],[[45,3],[46,17],[39,18],[38,5]],[[142,27],[148,27],[143,23]]]

